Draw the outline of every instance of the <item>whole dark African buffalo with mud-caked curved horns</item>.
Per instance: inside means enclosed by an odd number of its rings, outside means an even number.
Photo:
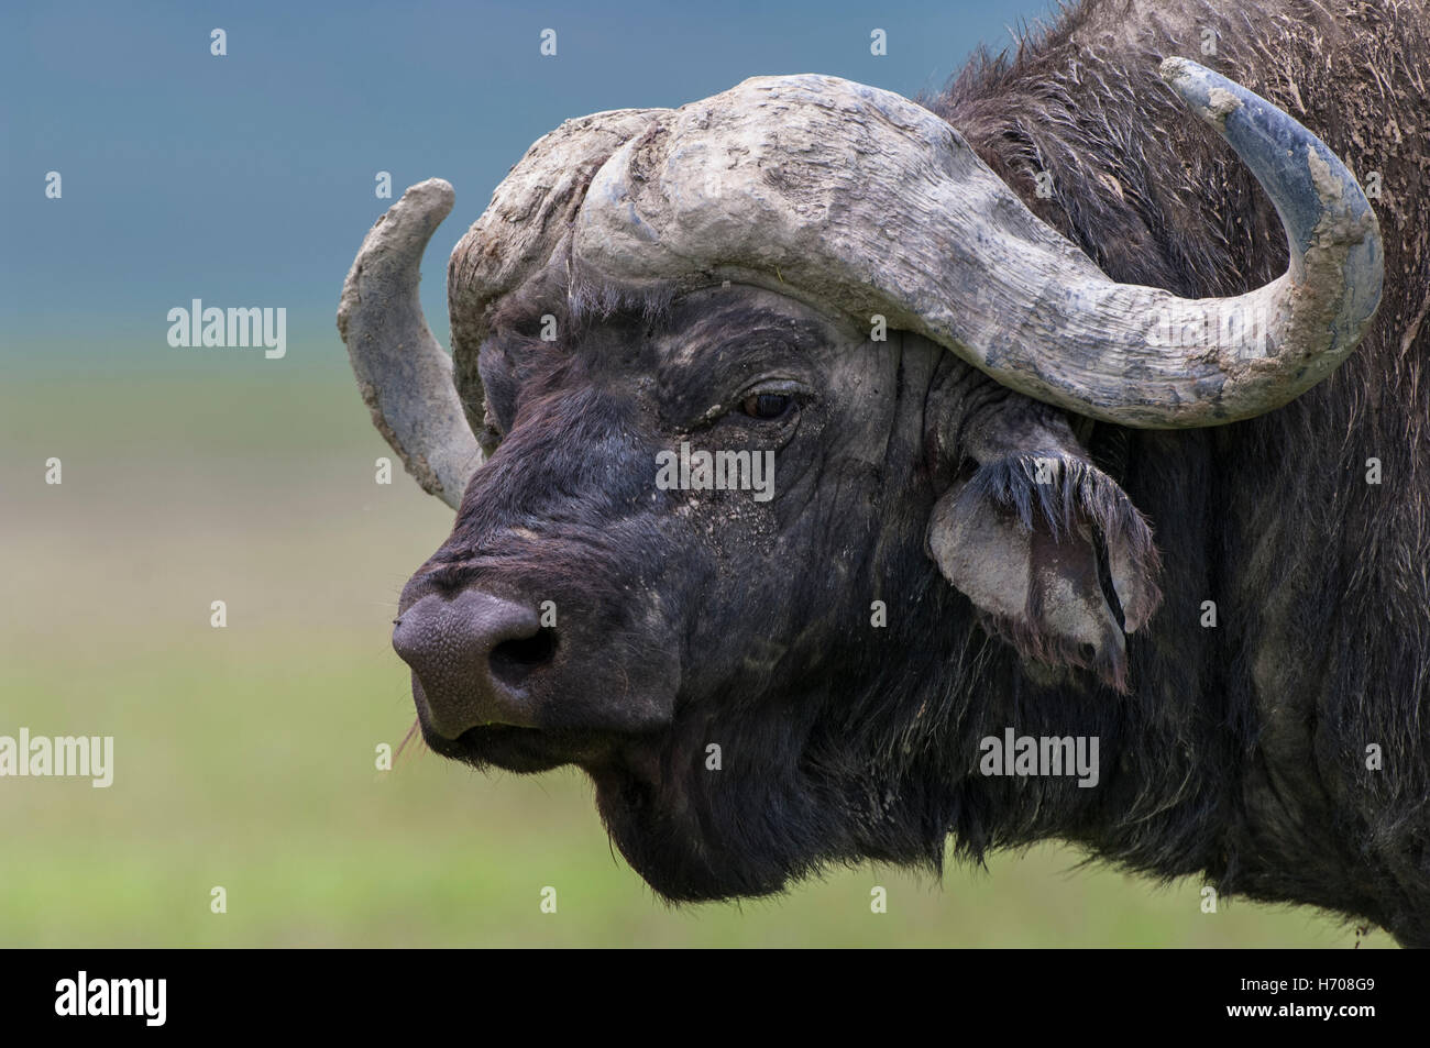
[[[428,745],[581,766],[671,899],[1058,838],[1430,945],[1427,59],[1419,0],[1088,0],[919,104],[569,120],[452,359],[409,189],[339,327],[456,509]]]

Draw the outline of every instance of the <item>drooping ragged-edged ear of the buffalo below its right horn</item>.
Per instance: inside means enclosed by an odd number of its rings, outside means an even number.
[[[928,549],[1024,658],[1127,691],[1127,642],[1161,600],[1151,528],[1117,483],[1065,455],[980,466],[934,505]]]

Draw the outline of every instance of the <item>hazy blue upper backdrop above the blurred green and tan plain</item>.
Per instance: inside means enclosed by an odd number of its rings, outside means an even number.
[[[446,256],[563,119],[679,106],[766,73],[917,94],[1042,0],[901,3],[7,3],[0,13],[0,353],[167,366],[166,313],[285,306],[287,366],[342,353],[363,233],[422,179],[456,187],[423,267],[446,345]],[[210,54],[210,30],[227,56]],[[556,56],[539,53],[556,30]],[[888,54],[869,53],[884,29]],[[63,196],[47,199],[47,172]],[[262,362],[262,353],[255,356]],[[273,366],[269,362],[267,366]]]

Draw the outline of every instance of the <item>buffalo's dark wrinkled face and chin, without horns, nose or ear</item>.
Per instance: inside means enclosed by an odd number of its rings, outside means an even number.
[[[924,549],[961,459],[950,435],[975,446],[995,427],[981,420],[1057,415],[928,342],[871,342],[752,287],[698,292],[659,325],[493,337],[480,366],[503,439],[400,608],[463,589],[552,600],[555,655],[523,681],[535,712],[506,718],[532,726],[459,722],[455,738],[415,675],[428,743],[478,766],[578,763],[669,898],[775,891],[827,858],[930,858],[908,828],[888,839],[895,766],[848,751],[878,738],[848,723],[851,696],[971,642],[968,603]],[[791,397],[779,417],[745,413],[771,390]],[[774,498],[659,490],[656,453],[682,440],[772,449]]]

